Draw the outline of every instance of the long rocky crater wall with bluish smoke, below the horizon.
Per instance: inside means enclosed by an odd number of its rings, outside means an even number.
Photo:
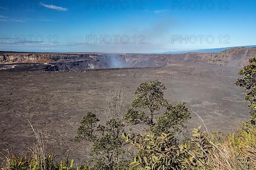
[[[78,71],[101,68],[169,67],[174,63],[204,63],[242,68],[256,56],[256,48],[222,48],[218,53],[190,52],[184,54],[0,54],[0,71]]]

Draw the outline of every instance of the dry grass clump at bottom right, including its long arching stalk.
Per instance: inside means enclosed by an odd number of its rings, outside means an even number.
[[[195,111],[193,112],[199,116]],[[201,119],[200,116],[199,118]],[[201,121],[204,124],[203,119]],[[205,124],[204,126],[207,130]],[[191,142],[194,143],[194,151],[201,154],[195,156],[194,152],[188,151],[188,153],[200,165],[188,169],[256,170],[256,126],[251,125],[250,122],[243,122],[235,132],[224,137],[210,134],[208,130],[207,135],[200,131],[193,133],[195,136],[200,136],[199,140],[192,138]]]

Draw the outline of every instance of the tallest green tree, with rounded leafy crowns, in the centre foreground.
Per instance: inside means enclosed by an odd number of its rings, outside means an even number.
[[[190,118],[189,109],[184,103],[170,105],[164,98],[166,87],[158,79],[141,83],[135,91],[135,99],[125,114],[132,125],[144,123],[155,135],[181,132]],[[160,115],[161,116],[156,116]]]

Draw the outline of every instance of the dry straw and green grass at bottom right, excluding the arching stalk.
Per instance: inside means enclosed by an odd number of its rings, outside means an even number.
[[[207,157],[207,161],[200,161],[202,166],[198,170],[256,170],[255,126],[243,124],[220,143],[212,140],[212,136],[207,139],[207,147],[211,148],[208,153],[204,145],[195,142]]]

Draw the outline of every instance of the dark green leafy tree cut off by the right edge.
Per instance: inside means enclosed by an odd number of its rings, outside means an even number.
[[[256,57],[249,59],[249,65],[244,66],[244,69],[240,70],[238,74],[243,77],[235,83],[247,91],[244,99],[245,101],[250,101],[250,122],[256,125]]]

